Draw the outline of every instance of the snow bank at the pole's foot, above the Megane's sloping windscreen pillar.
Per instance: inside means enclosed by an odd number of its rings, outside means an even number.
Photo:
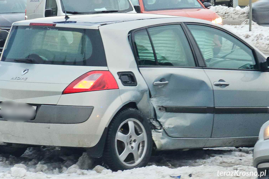
[[[269,54],[269,27],[259,26],[256,22],[252,22],[252,31],[249,31],[248,20],[242,25],[224,25],[224,27],[247,40],[264,54]]]

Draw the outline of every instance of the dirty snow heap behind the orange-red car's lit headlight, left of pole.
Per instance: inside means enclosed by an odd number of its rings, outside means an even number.
[[[216,12],[225,20],[237,20],[244,21],[248,19],[249,7],[240,8],[240,7],[227,7],[227,6],[213,6],[210,10]]]

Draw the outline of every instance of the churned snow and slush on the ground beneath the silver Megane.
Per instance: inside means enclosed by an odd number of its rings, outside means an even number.
[[[0,178],[5,179],[254,179],[256,176],[218,176],[219,172],[256,172],[252,167],[252,148],[214,148],[154,153],[149,166],[112,172],[95,161],[94,169],[81,170],[86,155],[76,152],[64,156],[59,148],[29,148],[21,158],[0,154]],[[82,161],[77,163],[78,160]]]

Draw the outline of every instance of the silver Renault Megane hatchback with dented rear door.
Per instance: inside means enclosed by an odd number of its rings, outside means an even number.
[[[152,147],[253,146],[268,120],[267,71],[255,47],[198,19],[112,13],[16,22],[0,61],[2,150],[85,148],[117,171],[146,166]],[[18,121],[26,104],[36,115]]]

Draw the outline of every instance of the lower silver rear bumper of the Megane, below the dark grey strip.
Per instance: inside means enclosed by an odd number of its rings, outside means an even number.
[[[93,147],[104,131],[104,128],[103,131],[97,131],[94,126],[90,120],[80,124],[0,121],[0,141],[57,147]]]

